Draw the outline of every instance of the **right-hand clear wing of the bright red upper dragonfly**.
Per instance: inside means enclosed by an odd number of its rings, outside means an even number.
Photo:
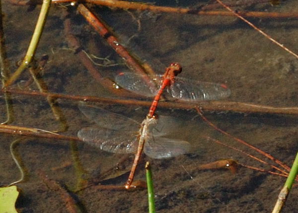
[[[179,77],[175,78],[169,92],[173,98],[184,101],[218,100],[228,97],[231,93],[224,84],[193,81]]]

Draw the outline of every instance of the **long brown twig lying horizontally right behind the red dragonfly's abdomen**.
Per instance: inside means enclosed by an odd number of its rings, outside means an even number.
[[[59,98],[64,100],[96,102],[102,104],[119,104],[130,106],[151,106],[150,101],[139,100],[125,100],[125,99],[111,99],[99,98],[94,96],[76,96],[76,95],[62,95],[57,93],[40,93],[36,91],[23,91],[7,88],[6,91],[12,94],[27,95],[27,96],[51,96],[52,98]],[[1,90],[3,92],[3,90]],[[201,101],[196,103],[190,102],[159,102],[159,107],[163,108],[178,108],[178,109],[193,109],[199,106],[204,111],[234,111],[244,113],[269,113],[269,114],[293,114],[298,115],[298,107],[273,107],[254,105],[241,102],[228,101]]]

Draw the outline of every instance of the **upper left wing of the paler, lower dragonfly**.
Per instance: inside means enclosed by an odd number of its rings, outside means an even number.
[[[136,120],[98,106],[89,106],[81,102],[78,108],[87,118],[100,127],[120,131],[137,131],[140,128],[140,124]]]

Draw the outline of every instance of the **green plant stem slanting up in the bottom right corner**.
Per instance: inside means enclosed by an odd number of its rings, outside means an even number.
[[[291,190],[292,185],[295,181],[295,177],[296,177],[297,173],[298,173],[298,152],[297,152],[296,158],[294,160],[294,163],[292,165],[289,176],[286,180],[286,183],[278,196],[278,199],[276,201],[276,204],[275,204],[275,207],[274,207],[272,213],[280,213],[281,212],[284,204],[286,203],[287,197],[290,193],[290,190]]]

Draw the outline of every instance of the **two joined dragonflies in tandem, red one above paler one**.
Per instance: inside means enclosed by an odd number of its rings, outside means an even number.
[[[137,152],[126,188],[129,188],[133,181],[143,147],[145,154],[154,159],[171,158],[188,153],[190,150],[187,141],[167,138],[164,131],[154,131],[162,129],[169,122],[167,117],[156,119],[154,116],[164,89],[167,89],[172,98],[184,101],[218,100],[230,95],[230,90],[224,84],[176,77],[181,71],[182,68],[178,63],[172,63],[166,68],[164,75],[156,76],[147,82],[144,79],[148,79],[148,76],[135,73],[121,73],[116,76],[115,81],[119,86],[139,95],[155,96],[141,128],[137,121],[123,115],[96,106],[79,105],[80,111],[97,124],[79,130],[77,135],[80,139],[111,153]],[[158,88],[155,85],[161,86]]]

